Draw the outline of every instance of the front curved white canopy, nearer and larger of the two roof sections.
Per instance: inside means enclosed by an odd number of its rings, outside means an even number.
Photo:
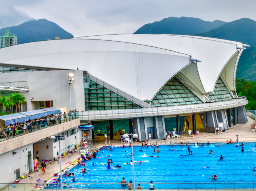
[[[88,71],[140,100],[151,100],[190,56],[127,42],[66,39],[0,49],[0,63]]]

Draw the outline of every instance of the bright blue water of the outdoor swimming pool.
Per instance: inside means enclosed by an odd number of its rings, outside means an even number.
[[[241,143],[240,143],[241,144]],[[142,161],[141,164],[135,164],[135,182],[136,183],[253,183],[256,179],[256,172],[253,171],[256,166],[255,143],[245,143],[245,152],[241,152],[242,147],[236,147],[233,144],[210,144],[202,147],[201,145],[189,145],[192,155],[188,154],[188,146],[159,146],[160,153],[153,152],[153,146],[146,147],[134,146],[134,161]],[[109,148],[109,147],[108,147]],[[148,150],[142,151],[139,150]],[[171,149],[171,151],[169,151]],[[175,150],[173,150],[175,149]],[[125,150],[128,151],[125,153]],[[213,154],[209,154],[212,150]],[[247,151],[249,150],[249,151]],[[75,166],[70,171],[75,174],[76,182],[81,184],[88,183],[120,183],[123,177],[127,183],[132,180],[132,166],[124,164],[131,160],[127,155],[131,152],[129,146],[113,147],[113,151],[99,151],[98,159],[86,161],[86,173],[82,173],[83,166]],[[107,157],[107,155],[110,155]],[[182,157],[180,157],[183,155]],[[220,161],[220,156],[225,158]],[[158,156],[158,157],[147,157]],[[108,158],[112,158],[112,166],[119,164],[122,169],[106,169]],[[92,166],[92,163],[95,166]],[[203,168],[210,167],[210,168]],[[216,174],[217,180],[211,177]],[[72,177],[63,175],[63,182],[74,183]],[[256,184],[254,185],[256,186]],[[74,185],[72,185],[74,187]],[[76,187],[87,188],[88,185],[77,185]],[[105,188],[106,185],[91,184],[91,189]],[[109,188],[121,188],[120,185],[108,185]],[[145,185],[148,187],[148,185]],[[155,185],[159,188],[158,185]],[[161,185],[161,188],[176,188],[177,185]],[[195,188],[195,185],[180,185],[180,188]],[[198,188],[212,188],[213,185],[197,185]],[[233,188],[234,185],[222,184],[221,188]],[[251,184],[237,184],[236,188],[251,188]]]

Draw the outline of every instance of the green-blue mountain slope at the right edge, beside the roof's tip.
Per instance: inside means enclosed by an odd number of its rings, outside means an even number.
[[[246,47],[238,63],[237,78],[256,81],[256,21],[242,18],[196,36],[234,40],[250,45]]]

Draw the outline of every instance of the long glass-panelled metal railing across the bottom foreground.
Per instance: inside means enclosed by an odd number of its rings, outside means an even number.
[[[129,189],[131,185],[128,183],[120,184],[120,183],[84,183],[84,184],[76,184],[76,183],[63,183],[64,190],[131,190]],[[154,190],[175,190],[175,191],[186,191],[186,190],[201,190],[201,191],[254,191],[254,187],[256,183],[153,183]],[[135,183],[136,190],[150,190],[150,183]],[[131,187],[132,188],[132,187]],[[0,190],[8,191],[8,190],[18,190],[18,191],[36,191],[36,190],[60,190],[59,183],[40,183],[40,184],[6,184],[0,183]]]

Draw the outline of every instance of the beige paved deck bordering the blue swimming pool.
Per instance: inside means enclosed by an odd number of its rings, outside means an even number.
[[[178,142],[226,142],[227,140],[232,139],[233,142],[236,142],[236,135],[239,136],[239,143],[241,142],[256,142],[256,133],[251,130],[251,123],[254,123],[255,120],[252,118],[248,117],[248,122],[245,124],[237,124],[237,125],[232,125],[230,129],[226,132],[222,132],[221,135],[215,135],[214,133],[201,133],[200,135],[195,135],[194,137],[188,137],[187,134],[181,135],[180,138],[173,138],[173,139],[168,139],[168,141],[176,141]],[[155,141],[152,141],[155,142]],[[162,140],[162,143],[165,142]],[[159,144],[160,141],[157,141]],[[121,142],[118,140],[111,140],[111,144],[113,145],[121,145]],[[129,145],[128,143],[123,143],[126,146]],[[104,142],[94,142],[94,146],[98,147],[100,145],[104,145]],[[140,142],[134,143],[134,145],[141,145]],[[61,165],[62,165],[62,170],[70,168],[72,166],[70,161],[76,160],[78,157],[80,157],[79,154],[79,149],[76,149],[76,153],[73,154],[68,154],[66,157],[62,158]],[[48,162],[46,166],[46,174],[42,175],[42,171],[40,172],[31,172],[27,174],[25,179],[21,179],[20,183],[36,183],[36,180],[38,178],[43,178],[44,180],[50,180],[53,178],[54,173],[60,173],[60,165],[59,161],[55,162]],[[30,176],[30,177],[28,177]],[[31,178],[32,177],[32,178]],[[26,190],[34,190],[32,185],[27,185]],[[31,189],[30,189],[31,188]],[[9,188],[10,190],[10,188]],[[11,188],[12,190],[12,188]]]

